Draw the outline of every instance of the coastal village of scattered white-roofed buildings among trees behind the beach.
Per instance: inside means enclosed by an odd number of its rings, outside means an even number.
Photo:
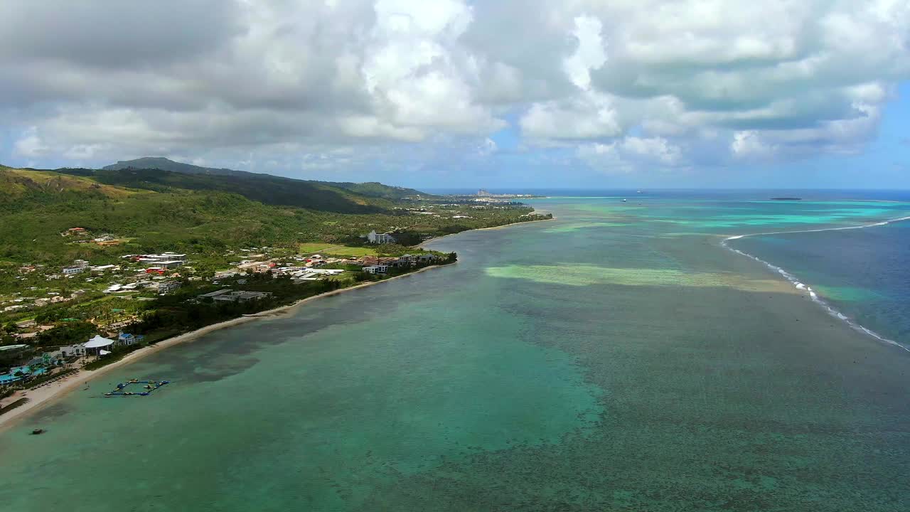
[[[78,227],[63,236],[76,243],[120,243],[116,235]],[[154,343],[171,334],[135,331],[143,331],[144,320],[149,323],[159,308],[214,308],[221,315],[212,318],[222,319],[455,261],[454,254],[401,246],[391,232],[371,230],[362,239],[362,247],[313,242],[300,251],[228,250],[222,256],[231,261],[218,270],[175,251],[124,254],[115,263],[21,265],[15,280],[24,289],[0,296],[0,399],[103,366],[144,346],[147,337]]]

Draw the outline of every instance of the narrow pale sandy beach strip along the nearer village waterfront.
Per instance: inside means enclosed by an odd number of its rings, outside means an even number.
[[[488,228],[485,228],[485,229],[488,229]],[[447,264],[443,264],[443,265],[430,265],[429,267],[424,267],[422,269],[408,272],[406,274],[392,276],[392,277],[389,277],[388,279],[384,279],[382,281],[362,282],[360,284],[356,284],[354,286],[349,286],[347,288],[341,288],[339,290],[333,290],[331,292],[319,293],[319,295],[313,295],[312,297],[300,299],[300,300],[292,302],[290,304],[287,304],[284,306],[279,306],[277,308],[272,308],[270,310],[256,312],[256,313],[249,313],[248,315],[238,316],[237,318],[232,318],[232,319],[226,320],[224,322],[212,323],[210,325],[206,325],[205,327],[200,327],[200,328],[196,329],[195,331],[178,334],[177,336],[174,336],[172,338],[167,338],[166,340],[162,340],[153,345],[148,345],[146,347],[140,348],[140,349],[136,350],[135,352],[127,353],[126,356],[124,356],[122,359],[115,361],[114,363],[107,364],[106,366],[102,366],[101,368],[98,368],[97,370],[80,369],[75,374],[68,375],[66,378],[61,379],[45,388],[39,388],[39,389],[35,389],[35,390],[17,391],[14,394],[11,394],[10,396],[7,396],[6,398],[4,398],[3,402],[9,404],[9,403],[15,402],[16,400],[18,400],[20,398],[28,398],[28,402],[16,407],[12,411],[9,411],[7,413],[4,413],[3,415],[0,415],[0,433],[3,433],[6,430],[9,430],[10,428],[17,425],[18,421],[25,420],[25,418],[29,415],[29,413],[38,412],[41,409],[45,408],[46,406],[54,404],[57,400],[62,399],[70,392],[76,390],[76,387],[78,387],[79,385],[91,384],[91,381],[93,379],[95,379],[96,377],[107,374],[110,371],[115,370],[116,368],[125,366],[126,364],[135,363],[136,361],[143,359],[143,358],[147,357],[148,355],[165,350],[168,347],[172,347],[172,346],[180,344],[180,343],[192,342],[192,341],[197,340],[197,338],[200,338],[208,333],[213,333],[215,331],[219,331],[219,330],[225,329],[227,327],[234,327],[235,325],[239,325],[241,323],[248,323],[248,322],[252,322],[254,320],[275,318],[280,314],[291,312],[293,309],[297,308],[298,306],[303,305],[306,302],[315,301],[317,299],[322,299],[325,297],[339,295],[340,293],[344,293],[344,292],[351,292],[353,290],[359,290],[361,288],[366,288],[368,286],[381,284],[383,282],[395,281],[400,278],[410,277],[412,275],[419,274],[420,272],[423,272],[423,271],[441,269],[450,264],[452,264],[452,263],[447,263]]]

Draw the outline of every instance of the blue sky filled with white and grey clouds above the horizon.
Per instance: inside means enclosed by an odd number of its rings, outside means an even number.
[[[0,162],[910,189],[910,0],[5,0]]]

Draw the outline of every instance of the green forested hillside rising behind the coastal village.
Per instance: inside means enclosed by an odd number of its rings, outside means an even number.
[[[227,249],[294,247],[303,241],[358,245],[369,230],[399,231],[402,241],[417,243],[426,236],[528,220],[522,215],[531,211],[442,205],[451,199],[422,199],[416,190],[420,200],[384,199],[375,196],[393,195],[393,188],[379,183],[355,187],[261,176],[0,168],[0,263],[102,264],[156,251],[214,258]],[[116,242],[76,241],[66,236],[70,228],[109,234]]]

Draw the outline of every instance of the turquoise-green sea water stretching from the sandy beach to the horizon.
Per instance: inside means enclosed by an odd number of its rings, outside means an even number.
[[[908,227],[804,232],[910,197],[561,193],[531,200],[556,220],[430,242],[455,265],[209,333],[28,416],[0,434],[0,503],[910,509],[910,353],[855,327],[908,342]],[[800,232],[727,240],[777,231]],[[100,396],[130,377],[173,384]]]

